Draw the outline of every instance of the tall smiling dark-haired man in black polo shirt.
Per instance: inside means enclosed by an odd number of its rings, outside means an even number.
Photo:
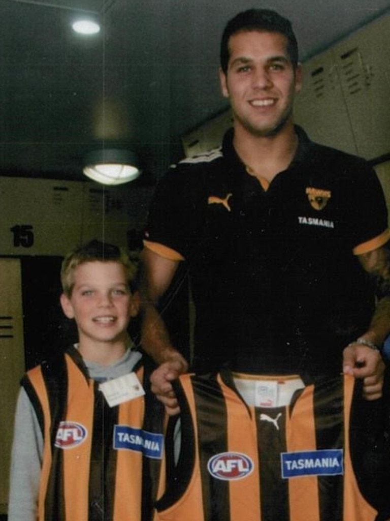
[[[294,125],[301,66],[288,20],[238,14],[221,41],[233,113],[222,147],[170,169],[150,207],[143,345],[162,363],[155,391],[188,368],[158,312],[179,263],[196,305],[193,368],[258,375],[350,373],[382,393],[390,332],[390,238],[375,173]],[[320,122],[319,122],[320,124]],[[375,305],[376,293],[376,305]]]

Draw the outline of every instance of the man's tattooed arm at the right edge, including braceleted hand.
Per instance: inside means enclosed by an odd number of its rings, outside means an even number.
[[[390,252],[383,246],[358,256],[362,267],[373,277],[378,303],[370,326],[359,338],[381,346],[390,333]],[[364,379],[367,400],[382,396],[384,363],[379,351],[352,342],[344,350],[344,373]]]

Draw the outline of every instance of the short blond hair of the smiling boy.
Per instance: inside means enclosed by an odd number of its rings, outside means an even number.
[[[61,266],[62,291],[68,297],[72,295],[74,286],[74,270],[86,262],[117,262],[125,271],[126,280],[132,293],[136,291],[137,262],[130,259],[125,250],[114,244],[94,239],[91,242],[78,246],[69,252]]]

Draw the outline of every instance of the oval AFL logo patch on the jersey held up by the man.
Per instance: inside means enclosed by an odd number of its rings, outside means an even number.
[[[253,462],[240,452],[221,452],[209,459],[207,470],[211,476],[223,481],[242,479],[252,472]]]

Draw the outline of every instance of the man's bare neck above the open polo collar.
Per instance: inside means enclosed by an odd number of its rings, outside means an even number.
[[[233,145],[246,165],[248,173],[271,182],[279,172],[292,162],[298,146],[294,126],[287,125],[278,134],[257,136],[235,126]]]

